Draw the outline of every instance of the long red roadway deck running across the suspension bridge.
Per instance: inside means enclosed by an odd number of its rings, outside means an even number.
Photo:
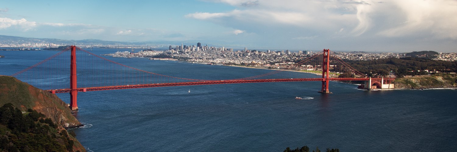
[[[330,78],[330,81],[344,80],[369,80],[369,78]],[[381,78],[372,78],[372,80],[380,81]],[[384,78],[384,80],[394,80],[394,78]],[[260,82],[292,82],[292,81],[325,81],[324,78],[303,78],[303,79],[253,79],[253,80],[214,80],[214,81],[196,81],[196,82],[177,82],[177,83],[162,83],[162,84],[134,84],[134,85],[117,85],[104,87],[88,87],[75,89],[78,92],[101,91],[114,89],[134,89],[134,88],[152,88],[152,87],[169,87],[169,86],[184,86],[184,85],[205,85],[205,84],[240,84],[240,83],[260,83]],[[49,93],[68,93],[73,90],[67,89],[50,89],[46,90]]]

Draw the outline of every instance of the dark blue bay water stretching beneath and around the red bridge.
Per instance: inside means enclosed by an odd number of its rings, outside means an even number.
[[[117,49],[94,49],[95,54]],[[120,50],[120,51],[130,51]],[[0,51],[11,75],[55,51]],[[109,58],[177,77],[242,78],[269,70],[135,58]],[[205,75],[202,75],[205,73]],[[311,74],[312,75],[312,74]],[[109,77],[109,75],[106,75]],[[189,93],[188,90],[191,90]],[[78,94],[73,129],[90,151],[282,151],[286,147],[354,151],[457,148],[456,89],[366,91],[330,82],[217,84]],[[57,94],[69,102],[69,94]],[[296,96],[304,100],[294,99]]]

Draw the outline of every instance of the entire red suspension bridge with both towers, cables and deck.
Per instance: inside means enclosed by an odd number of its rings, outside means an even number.
[[[78,58],[76,58],[78,54]],[[70,58],[68,58],[70,57]],[[61,52],[25,68],[11,76],[21,79],[40,89],[50,93],[69,93],[70,108],[77,110],[78,92],[113,90],[113,89],[134,89],[167,86],[205,85],[205,84],[239,84],[239,83],[260,83],[260,82],[292,82],[292,81],[321,81],[320,93],[331,93],[329,81],[342,80],[363,80],[366,81],[365,88],[392,88],[390,82],[393,78],[367,78],[363,73],[358,72],[349,64],[339,58],[334,58],[335,67],[344,67],[358,76],[365,78],[331,78],[330,77],[330,50],[324,49],[308,58],[303,59],[296,66],[304,65],[309,61],[322,57],[322,77],[309,78],[309,73],[291,72],[286,69],[272,70],[272,72],[260,75],[253,75],[238,79],[189,79],[180,78],[159,73],[152,73],[138,68],[133,68],[112,60],[100,57],[92,52],[71,46]],[[70,63],[68,67],[68,63]],[[76,64],[78,63],[78,64]],[[78,73],[77,73],[78,69]],[[70,77],[68,79],[68,73]],[[110,74],[109,78],[103,77]],[[202,73],[202,75],[207,75]],[[69,80],[69,86],[68,86]],[[79,80],[79,81],[78,81]],[[60,83],[58,83],[60,82]],[[388,86],[385,86],[388,85]]]

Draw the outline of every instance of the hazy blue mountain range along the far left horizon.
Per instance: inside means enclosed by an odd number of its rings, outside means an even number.
[[[197,45],[199,40],[190,40],[190,41],[148,41],[148,42],[117,42],[117,41],[104,41],[97,39],[84,39],[84,40],[62,40],[55,38],[31,38],[31,37],[15,37],[15,36],[5,36],[0,35],[0,45],[22,45],[27,43],[53,43],[60,46],[63,45],[80,45],[80,46],[177,46],[184,43],[184,45]],[[207,42],[202,42],[206,45]],[[213,41],[213,44],[208,44],[210,46],[218,47],[223,42]],[[216,44],[216,45],[214,45]],[[218,45],[219,44],[219,45]]]

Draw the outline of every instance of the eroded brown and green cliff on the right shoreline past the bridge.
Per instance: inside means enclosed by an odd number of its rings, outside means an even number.
[[[457,88],[457,75],[442,74],[395,79],[396,89]]]

